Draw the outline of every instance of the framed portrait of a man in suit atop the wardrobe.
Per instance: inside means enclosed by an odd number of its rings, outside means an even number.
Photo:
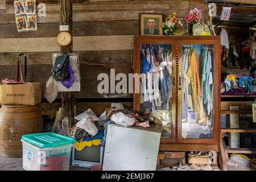
[[[141,14],[141,35],[163,35],[162,14]]]

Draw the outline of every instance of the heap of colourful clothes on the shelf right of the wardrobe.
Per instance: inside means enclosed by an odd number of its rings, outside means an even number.
[[[253,94],[253,82],[255,78],[251,76],[241,76],[229,74],[224,82],[221,82],[221,93],[224,95],[244,95]]]

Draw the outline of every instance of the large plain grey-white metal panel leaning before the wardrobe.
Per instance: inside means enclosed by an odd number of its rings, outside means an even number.
[[[155,171],[162,128],[108,126],[103,171]]]

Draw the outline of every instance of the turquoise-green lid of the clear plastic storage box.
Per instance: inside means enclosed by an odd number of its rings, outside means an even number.
[[[40,148],[67,146],[76,142],[75,138],[65,137],[51,132],[23,135],[22,140]]]

